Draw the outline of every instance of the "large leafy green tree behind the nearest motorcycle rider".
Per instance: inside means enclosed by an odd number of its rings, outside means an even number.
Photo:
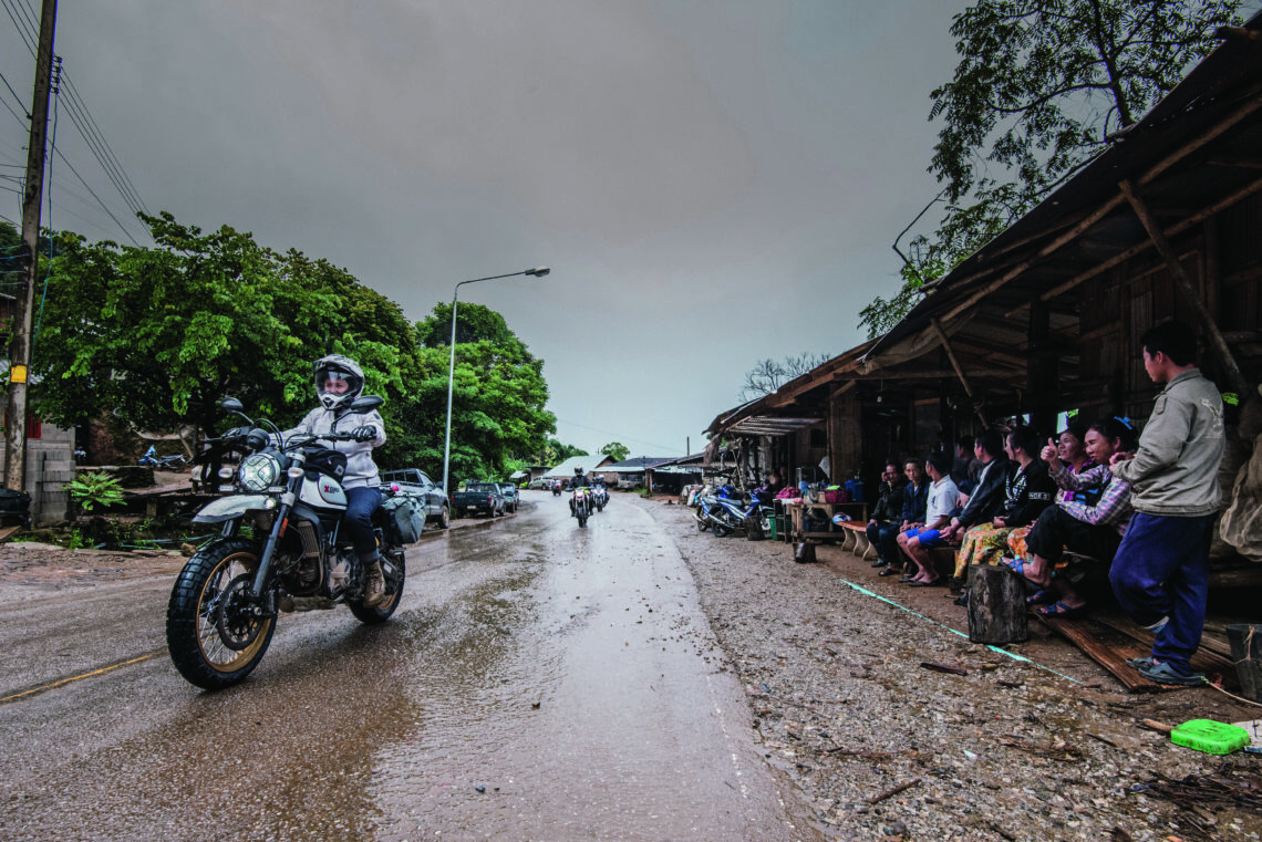
[[[47,417],[74,426],[111,412],[146,430],[212,430],[231,395],[251,413],[297,421],[313,402],[312,360],[333,352],[360,359],[367,391],[403,395],[416,369],[411,332],[386,299],[227,226],[203,234],[167,213],[144,221],[154,248],[58,237],[33,352]],[[374,318],[356,321],[361,309]]]

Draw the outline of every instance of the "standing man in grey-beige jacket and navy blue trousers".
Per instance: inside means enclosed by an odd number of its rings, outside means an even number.
[[[1122,538],[1109,581],[1136,623],[1156,634],[1151,658],[1129,660],[1162,684],[1205,681],[1191,669],[1209,592],[1209,542],[1222,503],[1223,400],[1193,359],[1196,338],[1180,321],[1150,328],[1143,367],[1165,383],[1133,456],[1116,454],[1113,474],[1131,484],[1135,517]]]

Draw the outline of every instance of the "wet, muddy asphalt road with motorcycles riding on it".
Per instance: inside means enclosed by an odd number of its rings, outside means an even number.
[[[390,623],[285,615],[220,693],[167,659],[173,576],[0,604],[0,698],[86,676],[0,703],[0,839],[815,838],[639,500],[526,493],[408,562]]]

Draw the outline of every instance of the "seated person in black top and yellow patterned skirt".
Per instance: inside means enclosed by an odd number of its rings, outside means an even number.
[[[1015,427],[1005,437],[1010,461],[1003,505],[989,523],[979,523],[964,533],[955,553],[953,586],[964,584],[964,570],[969,565],[1000,563],[1012,532],[1029,527],[1051,504],[1056,483],[1047,474],[1047,465],[1039,459],[1039,435],[1030,427]]]

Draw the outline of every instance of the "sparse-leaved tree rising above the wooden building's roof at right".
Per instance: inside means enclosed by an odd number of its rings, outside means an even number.
[[[912,241],[904,285],[861,311],[868,338],[921,287],[1037,204],[1152,107],[1238,23],[1241,0],[981,0],[955,15],[960,62],[930,93],[941,222]],[[901,253],[901,252],[900,252]]]

